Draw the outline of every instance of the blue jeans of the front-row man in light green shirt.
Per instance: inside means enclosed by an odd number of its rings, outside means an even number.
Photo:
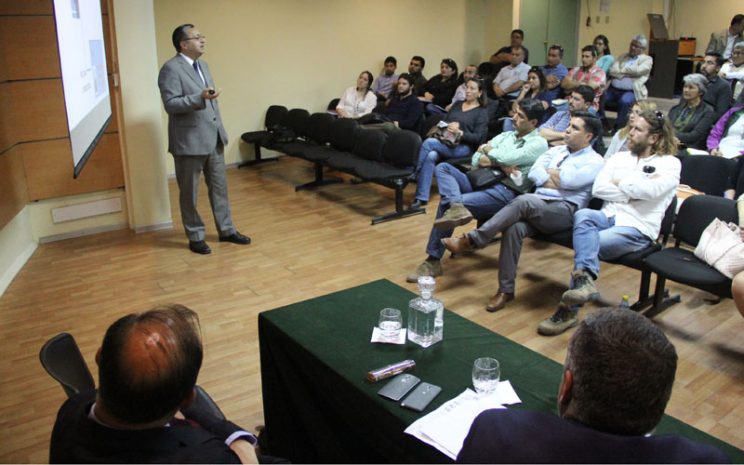
[[[487,220],[517,196],[516,192],[503,184],[496,184],[482,191],[473,191],[473,186],[470,185],[465,173],[449,163],[438,165],[436,173],[439,195],[441,196],[437,218],[441,218],[451,204],[462,203],[475,218]],[[442,255],[444,255],[442,239],[451,237],[452,231],[452,229],[431,228],[429,242],[426,244],[426,253],[434,258],[442,258]]]

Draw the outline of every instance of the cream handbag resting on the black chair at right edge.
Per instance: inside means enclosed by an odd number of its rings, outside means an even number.
[[[744,271],[744,242],[739,227],[718,218],[700,235],[695,256],[729,279]]]

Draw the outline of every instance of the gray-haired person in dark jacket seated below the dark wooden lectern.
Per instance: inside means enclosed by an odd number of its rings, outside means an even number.
[[[669,120],[684,147],[705,150],[708,133],[716,121],[713,107],[703,101],[708,79],[702,74],[688,74],[682,81],[682,98],[669,110]]]

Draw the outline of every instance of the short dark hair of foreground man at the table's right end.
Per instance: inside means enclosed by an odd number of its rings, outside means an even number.
[[[606,433],[642,435],[672,394],[677,352],[646,317],[623,309],[587,316],[568,343],[574,419]]]

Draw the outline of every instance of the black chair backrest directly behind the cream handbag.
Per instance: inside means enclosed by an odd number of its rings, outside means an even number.
[[[703,230],[715,218],[726,223],[737,223],[736,202],[712,195],[693,195],[688,197],[677,214],[674,226],[674,237],[677,245],[680,241],[696,246]]]

